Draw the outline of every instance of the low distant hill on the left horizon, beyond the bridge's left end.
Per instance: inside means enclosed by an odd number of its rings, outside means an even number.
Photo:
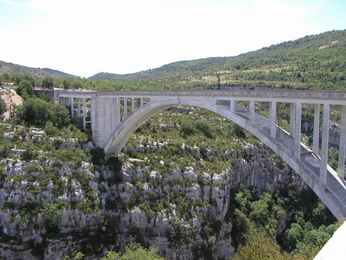
[[[79,76],[71,75],[59,70],[54,70],[50,68],[31,68],[31,67],[25,67],[22,65],[17,65],[5,61],[0,61],[0,73],[29,73],[37,77],[45,77],[45,76],[51,76],[51,77],[74,77],[78,78]]]

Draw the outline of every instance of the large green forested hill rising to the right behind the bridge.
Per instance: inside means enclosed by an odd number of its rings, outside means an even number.
[[[124,75],[101,72],[91,79],[345,90],[346,30],[305,36],[236,57],[179,61]]]

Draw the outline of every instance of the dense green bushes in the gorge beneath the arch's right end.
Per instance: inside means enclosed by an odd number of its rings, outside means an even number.
[[[235,245],[240,246],[235,259],[312,259],[341,224],[332,224],[335,218],[311,190],[299,191],[295,184],[274,194],[258,195],[244,185],[231,193],[232,236]],[[279,223],[290,212],[297,213],[288,220],[289,228],[278,235]],[[248,243],[249,247],[242,246]],[[281,253],[278,244],[287,253]]]

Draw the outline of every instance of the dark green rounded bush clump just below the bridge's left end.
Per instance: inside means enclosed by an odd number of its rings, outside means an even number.
[[[52,105],[49,101],[31,97],[17,107],[17,118],[28,125],[45,126],[51,121],[57,127],[70,123],[69,111],[60,105]]]

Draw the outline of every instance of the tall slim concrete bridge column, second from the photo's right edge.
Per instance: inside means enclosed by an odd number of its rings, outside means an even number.
[[[324,104],[323,105],[321,166],[320,166],[320,179],[324,184],[327,182],[328,139],[329,139],[329,105]]]

